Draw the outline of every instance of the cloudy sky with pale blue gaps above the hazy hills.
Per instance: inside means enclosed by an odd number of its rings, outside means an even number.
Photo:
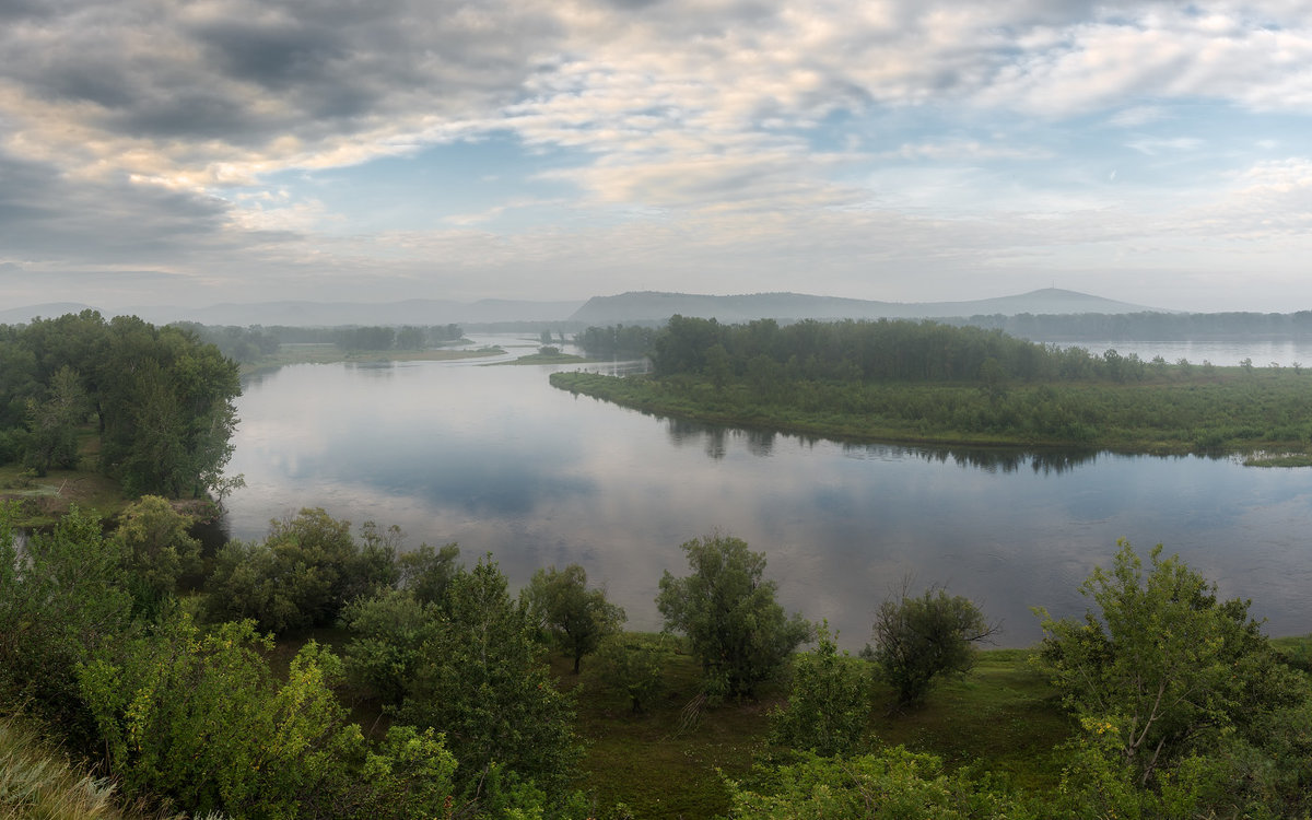
[[[1308,0],[0,0],[0,307],[1309,266]]]

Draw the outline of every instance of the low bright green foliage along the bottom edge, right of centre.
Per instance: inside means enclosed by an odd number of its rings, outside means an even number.
[[[733,820],[1026,820],[1048,816],[987,777],[943,773],[942,761],[903,747],[863,757],[804,756],[728,782]]]

